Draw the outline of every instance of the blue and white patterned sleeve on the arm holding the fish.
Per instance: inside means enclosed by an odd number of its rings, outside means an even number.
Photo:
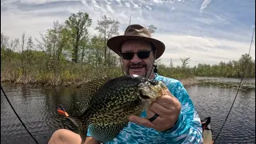
[[[171,81],[174,82],[167,82],[166,86],[171,94],[181,102],[181,113],[174,127],[160,134],[166,138],[167,143],[202,143],[202,125],[194,104],[182,82]]]

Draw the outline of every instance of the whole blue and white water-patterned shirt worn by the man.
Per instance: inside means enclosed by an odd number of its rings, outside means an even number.
[[[166,84],[170,93],[181,102],[182,110],[174,127],[165,132],[129,122],[116,138],[106,143],[202,143],[202,125],[189,94],[181,82],[155,74],[155,80]],[[141,117],[146,118],[144,110]],[[87,136],[90,136],[88,130]]]

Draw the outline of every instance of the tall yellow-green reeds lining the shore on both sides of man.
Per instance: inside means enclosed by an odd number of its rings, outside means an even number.
[[[170,73],[159,69],[161,75],[182,80],[184,85],[195,82],[194,76],[182,73]],[[11,82],[18,85],[42,86],[80,86],[82,82],[103,76],[115,78],[122,76],[120,66],[104,68],[81,63],[62,63],[54,69],[46,70],[44,65],[26,66],[26,75],[22,74],[22,66],[17,62],[2,65],[1,82]]]

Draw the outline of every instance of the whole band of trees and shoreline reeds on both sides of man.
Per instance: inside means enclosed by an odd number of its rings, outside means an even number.
[[[21,38],[10,40],[1,34],[1,81],[56,86],[106,74],[121,76],[120,59],[106,46],[109,38],[118,35],[120,22],[106,15],[97,21],[96,27],[91,26],[92,21],[89,14],[78,12],[62,24],[55,21],[40,38],[24,33]],[[154,34],[157,27],[150,25],[148,29]],[[181,58],[181,66],[174,67],[172,62],[165,66],[158,60],[159,74],[178,79],[194,76],[239,78],[246,70],[247,78],[255,77],[255,60],[247,54],[238,61],[220,62],[214,66],[198,64],[191,68],[189,62],[190,58]]]

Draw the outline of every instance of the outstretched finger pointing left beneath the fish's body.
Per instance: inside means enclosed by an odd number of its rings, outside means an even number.
[[[130,116],[129,117],[130,122],[134,122],[135,124],[141,125],[141,126],[146,126],[150,128],[156,128],[154,123],[150,122],[147,118],[142,118],[138,116]]]

